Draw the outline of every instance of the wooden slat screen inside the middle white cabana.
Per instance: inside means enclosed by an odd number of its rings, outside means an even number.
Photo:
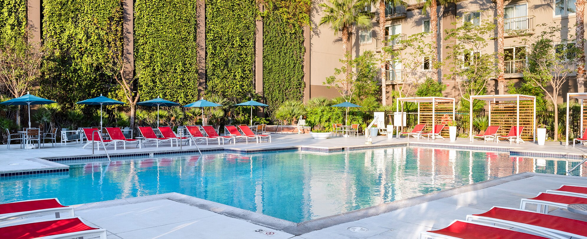
[[[517,107],[515,102],[491,102],[491,126],[501,126],[497,132],[507,135],[512,126],[517,124]],[[519,126],[524,126],[522,139],[534,140],[534,102],[532,100],[519,101]]]

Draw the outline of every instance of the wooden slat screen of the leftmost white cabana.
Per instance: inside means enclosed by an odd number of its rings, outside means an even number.
[[[434,121],[436,124],[448,124],[453,121],[453,102],[435,102]],[[432,103],[420,103],[420,121],[419,124],[426,124],[423,133],[429,133],[432,130]],[[440,133],[443,137],[448,137],[448,126],[444,127]]]

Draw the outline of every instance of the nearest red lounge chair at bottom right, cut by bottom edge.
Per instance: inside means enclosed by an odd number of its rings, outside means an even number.
[[[551,238],[564,238],[558,235],[541,231],[540,234],[549,235]],[[521,233],[519,231],[512,231],[494,225],[487,225],[481,223],[473,223],[470,221],[454,220],[448,227],[436,231],[423,231],[420,233],[420,239],[426,238],[443,238],[443,239],[545,239],[538,235]]]

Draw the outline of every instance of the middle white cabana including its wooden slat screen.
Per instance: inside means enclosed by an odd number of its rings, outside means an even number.
[[[473,100],[485,100],[489,103],[489,126],[502,126],[498,133],[508,134],[511,126],[524,126],[524,132],[532,132],[536,140],[536,96],[528,95],[480,95],[469,97],[469,138],[473,142]],[[515,107],[514,103],[515,102]],[[520,105],[522,102],[523,105]],[[532,102],[529,104],[529,102]],[[520,113],[520,109],[523,111]],[[493,115],[492,115],[493,113]],[[492,117],[493,116],[493,117]],[[522,122],[520,122],[522,117]],[[515,120],[514,120],[515,118]],[[512,125],[514,124],[514,125]]]

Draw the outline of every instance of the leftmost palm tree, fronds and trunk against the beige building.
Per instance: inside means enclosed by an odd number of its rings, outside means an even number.
[[[353,26],[370,27],[371,14],[363,11],[366,1],[363,0],[329,0],[330,5],[322,3],[318,6],[323,8],[324,16],[320,19],[319,25],[330,25],[335,35],[340,31],[342,35],[342,49],[345,58],[345,80],[350,80],[350,33]],[[345,89],[343,89],[345,91]],[[346,95],[346,93],[345,93]]]

